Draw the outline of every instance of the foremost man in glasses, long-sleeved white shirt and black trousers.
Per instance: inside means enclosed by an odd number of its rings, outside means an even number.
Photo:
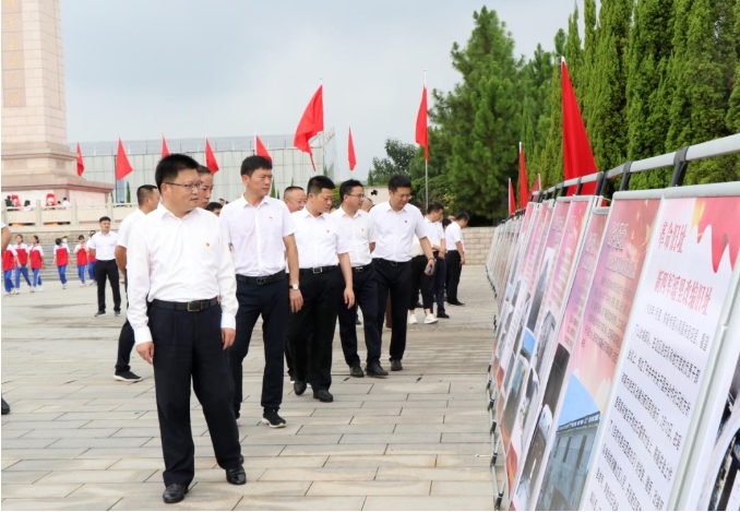
[[[187,155],[159,160],[162,204],[132,226],[127,249],[128,317],[136,352],[154,365],[165,503],[184,498],[195,472],[191,380],[226,481],[247,483],[226,352],[236,336],[237,282],[218,217],[198,207],[196,169]]]

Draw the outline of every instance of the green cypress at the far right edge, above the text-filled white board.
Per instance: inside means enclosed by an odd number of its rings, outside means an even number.
[[[733,0],[678,0],[668,151],[729,134],[726,117],[737,66],[733,8]],[[733,158],[711,158],[691,164],[684,183],[737,177]]]

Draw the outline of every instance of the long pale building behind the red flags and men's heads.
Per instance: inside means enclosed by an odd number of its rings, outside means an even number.
[[[281,198],[286,187],[296,184],[306,188],[308,180],[324,171],[336,178],[336,138],[334,129],[317,135],[311,141],[315,172],[308,154],[293,146],[293,135],[260,135],[273,158],[274,183]],[[210,136],[211,148],[216,155],[219,171],[215,175],[213,200],[237,199],[243,192],[241,184],[241,162],[255,152],[254,135]],[[76,143],[70,143],[72,151]],[[142,184],[154,184],[154,170],[162,156],[162,139],[145,141],[123,141],[123,146],[133,167],[133,171],[120,181],[115,178],[116,152],[118,141],[81,142],[80,148],[85,160],[83,177],[93,181],[115,184],[114,201],[126,202],[127,183],[131,189],[131,200],[135,201],[136,189]],[[205,165],[205,138],[167,139],[170,153],[184,153]]]

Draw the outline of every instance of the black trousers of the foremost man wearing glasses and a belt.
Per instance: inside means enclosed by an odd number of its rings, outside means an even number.
[[[234,385],[220,337],[220,317],[218,306],[193,313],[150,307],[165,486],[187,486],[195,473],[191,379],[208,425],[216,462],[224,469],[239,467],[239,428],[231,407]]]

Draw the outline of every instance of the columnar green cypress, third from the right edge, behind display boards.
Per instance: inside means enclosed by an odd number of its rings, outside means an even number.
[[[596,53],[589,70],[588,135],[600,170],[624,162],[626,156],[625,53],[632,0],[604,0],[596,32]]]

